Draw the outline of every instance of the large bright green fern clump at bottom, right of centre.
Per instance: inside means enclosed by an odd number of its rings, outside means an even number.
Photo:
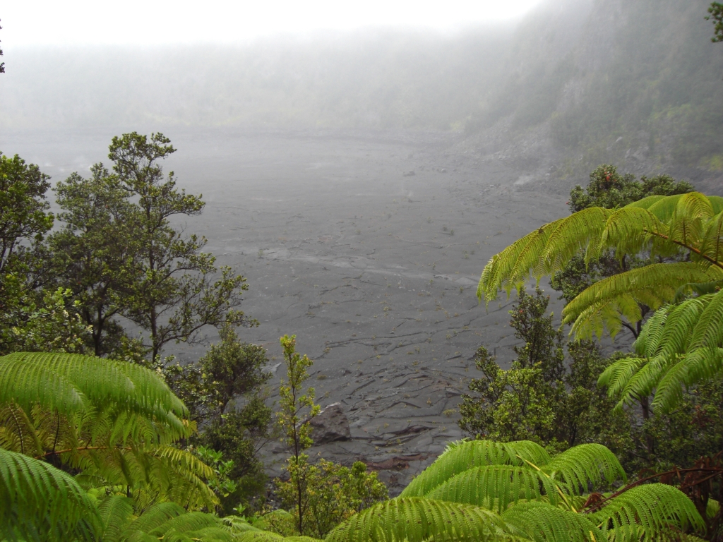
[[[534,457],[542,466],[531,462]],[[625,480],[615,456],[599,444],[549,457],[531,442],[454,442],[413,482],[412,491],[424,496],[403,493],[377,504],[338,525],[326,540],[698,541],[691,533],[703,532],[703,519],[671,486],[626,486],[590,499],[591,491]],[[236,540],[313,542],[302,538],[249,530]]]

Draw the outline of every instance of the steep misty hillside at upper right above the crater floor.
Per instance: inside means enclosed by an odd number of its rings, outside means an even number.
[[[719,191],[723,48],[710,42],[708,5],[597,0],[562,53],[561,17],[547,25],[531,17],[504,87],[470,126],[469,145],[552,178],[607,162]]]

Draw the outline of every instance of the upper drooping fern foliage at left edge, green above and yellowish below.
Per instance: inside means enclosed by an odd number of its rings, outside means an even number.
[[[0,357],[0,445],[55,457],[103,486],[153,490],[189,507],[218,501],[213,470],[168,444],[192,434],[180,400],[153,371],[69,354]]]

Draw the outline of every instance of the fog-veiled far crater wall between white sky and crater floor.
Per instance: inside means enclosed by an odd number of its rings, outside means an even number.
[[[541,17],[556,34],[546,61],[570,51],[590,2],[567,4],[452,33],[367,28],[245,46],[7,47],[0,114],[7,129],[460,129],[491,107],[500,82],[536,61],[524,36]]]

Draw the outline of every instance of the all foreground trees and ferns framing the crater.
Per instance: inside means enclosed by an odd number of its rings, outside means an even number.
[[[6,538],[719,539],[722,198],[603,165],[573,189],[569,218],[495,256],[479,293],[518,290],[518,359],[503,370],[479,348],[460,410],[482,440],[450,444],[388,500],[363,463],[304,453],[320,408],[295,337],[281,337],[275,416],[266,404],[265,350],[236,333],[254,324],[238,311],[244,279],[168,221],[202,209],[163,177],[172,151],[160,134],[114,138],[114,173],[98,164],[56,185],[53,230],[47,177],[0,157]],[[526,293],[530,269],[557,272],[576,340],[539,288]],[[203,325],[220,342],[197,364],[163,358]],[[591,335],[624,327],[633,353],[602,356]],[[278,436],[286,476],[264,499],[257,447]]]

